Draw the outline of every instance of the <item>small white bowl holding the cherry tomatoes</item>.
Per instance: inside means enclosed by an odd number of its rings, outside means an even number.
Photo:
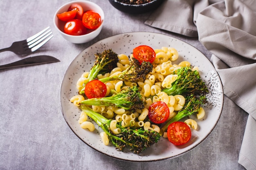
[[[74,3],[80,4],[83,7],[83,11],[92,10],[94,12],[99,13],[99,15],[101,16],[101,25],[95,30],[88,29],[88,31],[90,31],[90,32],[88,32],[85,35],[69,35],[69,34],[64,33],[64,25],[66,22],[59,20],[57,17],[57,14],[67,11],[68,8],[70,7],[70,5],[74,4]],[[102,26],[103,26],[104,19],[105,19],[104,12],[101,9],[101,7],[99,7],[99,5],[97,5],[93,2],[87,1],[87,0],[76,0],[76,1],[68,2],[68,3],[62,5],[58,9],[56,11],[56,13],[54,14],[53,23],[54,23],[55,28],[58,30],[59,33],[61,33],[61,35],[63,36],[63,38],[65,38],[65,40],[75,43],[75,44],[82,44],[82,43],[91,41],[92,39],[97,37],[97,35],[99,35],[99,33],[101,32]]]

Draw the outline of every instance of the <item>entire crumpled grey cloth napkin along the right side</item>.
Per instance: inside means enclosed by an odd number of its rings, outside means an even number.
[[[145,24],[198,40],[224,93],[248,115],[238,163],[256,170],[256,1],[164,0]]]

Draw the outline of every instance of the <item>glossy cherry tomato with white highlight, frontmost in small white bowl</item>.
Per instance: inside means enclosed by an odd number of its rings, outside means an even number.
[[[69,35],[83,35],[86,33],[86,28],[83,26],[81,20],[69,20],[64,26],[64,33]]]

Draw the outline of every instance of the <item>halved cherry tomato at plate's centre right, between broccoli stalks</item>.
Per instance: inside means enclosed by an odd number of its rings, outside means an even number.
[[[170,110],[166,103],[162,101],[154,102],[148,108],[148,118],[155,124],[164,123],[170,115]]]

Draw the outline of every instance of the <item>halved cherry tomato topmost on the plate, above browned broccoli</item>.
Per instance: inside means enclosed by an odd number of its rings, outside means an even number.
[[[141,45],[133,49],[133,57],[135,57],[139,62],[150,62],[155,60],[155,51],[150,46]]]

